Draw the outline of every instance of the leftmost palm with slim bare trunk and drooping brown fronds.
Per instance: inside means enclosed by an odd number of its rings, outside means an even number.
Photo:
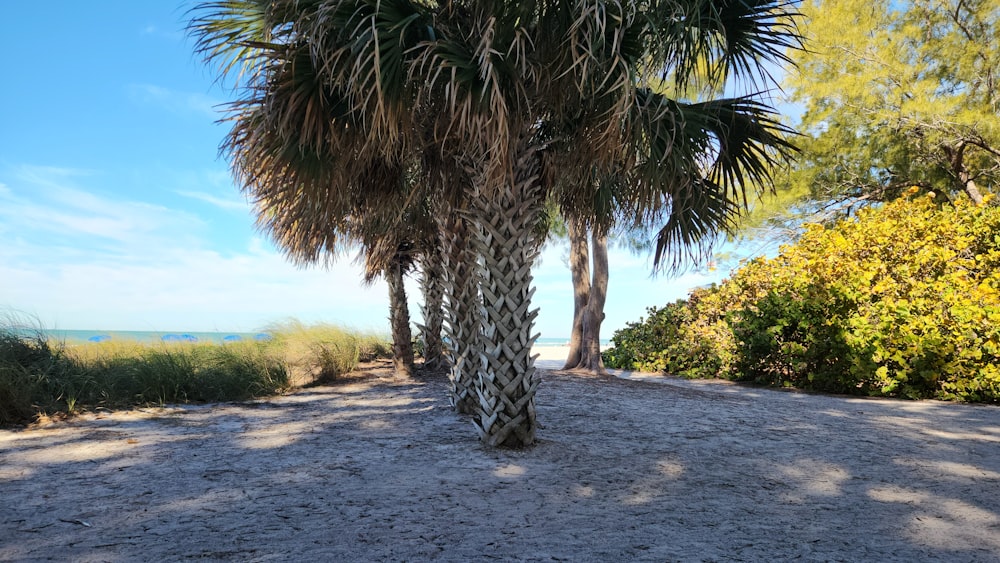
[[[223,74],[244,73],[243,96],[223,150],[258,210],[258,226],[294,262],[330,264],[352,244],[363,247],[365,281],[384,277],[397,375],[413,371],[403,276],[412,268],[412,222],[400,158],[364,150],[358,115],[329,91],[309,49],[275,19],[296,18],[286,3],[213,2],[192,21],[198,49],[221,57]],[[279,17],[283,16],[283,17]],[[411,190],[412,191],[412,190]],[[405,227],[402,229],[401,227]]]

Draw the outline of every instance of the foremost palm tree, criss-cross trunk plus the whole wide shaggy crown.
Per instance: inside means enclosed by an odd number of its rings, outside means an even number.
[[[322,248],[326,218],[370,210],[360,193],[389,197],[398,185],[378,181],[381,167],[415,154],[464,171],[435,197],[460,214],[476,258],[465,265],[480,328],[464,337],[490,445],[534,441],[531,266],[549,195],[588,216],[594,170],[627,178],[618,212],[665,221],[659,260],[727,228],[790,150],[754,98],[686,103],[651,86],[787,60],[798,37],[783,0],[233,0],[196,12],[199,50],[246,72],[229,144],[241,184],[281,210],[274,232]],[[273,133],[255,136],[258,121]]]

